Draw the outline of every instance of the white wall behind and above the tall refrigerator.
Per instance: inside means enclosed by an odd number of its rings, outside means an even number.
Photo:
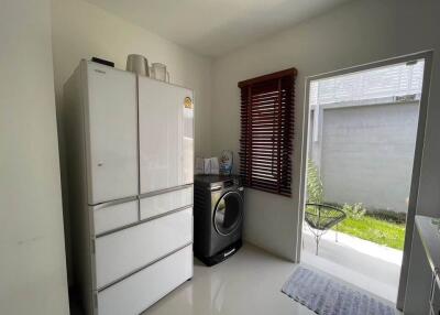
[[[211,59],[198,56],[158,35],[147,32],[94,4],[81,0],[52,0],[52,32],[55,72],[55,94],[58,117],[63,110],[63,85],[81,58],[92,56],[113,61],[125,68],[127,56],[142,54],[148,62],[167,65],[170,82],[195,90],[195,150],[197,155],[211,151]],[[64,141],[61,131],[62,173],[64,174]],[[63,176],[65,210],[67,194]],[[69,225],[65,216],[67,262],[72,280]],[[72,283],[72,281],[69,281]]]

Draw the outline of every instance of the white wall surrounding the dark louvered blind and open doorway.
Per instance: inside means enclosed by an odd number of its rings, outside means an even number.
[[[246,189],[244,237],[294,260],[298,221],[299,159],[305,78],[326,72],[436,48],[431,100],[421,171],[419,213],[440,213],[440,2],[352,1],[327,14],[218,58],[212,82],[212,151],[239,151],[240,90],[237,83],[296,67],[293,198]],[[436,135],[437,134],[437,135]],[[437,163],[436,163],[437,162]]]

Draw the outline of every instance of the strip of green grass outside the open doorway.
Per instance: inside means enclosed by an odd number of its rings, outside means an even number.
[[[336,227],[333,227],[333,230]],[[338,225],[338,231],[391,248],[404,250],[405,225],[403,224],[395,224],[363,216],[359,219],[344,219]]]

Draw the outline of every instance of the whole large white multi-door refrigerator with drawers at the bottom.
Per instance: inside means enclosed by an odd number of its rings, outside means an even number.
[[[193,276],[193,91],[81,61],[64,87],[75,285],[140,314]]]

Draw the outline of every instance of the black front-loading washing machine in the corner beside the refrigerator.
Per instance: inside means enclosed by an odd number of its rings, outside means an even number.
[[[194,253],[205,264],[213,265],[241,247],[243,197],[239,176],[195,176]]]

